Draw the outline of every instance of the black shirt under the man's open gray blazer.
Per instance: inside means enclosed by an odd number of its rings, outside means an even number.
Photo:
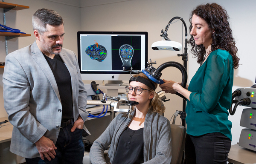
[[[47,60],[47,63],[52,69],[52,73],[54,75],[61,97],[61,122],[68,121],[69,119],[73,118],[72,86],[70,73],[59,55],[55,55],[53,59],[44,55],[44,58]],[[61,111],[56,109],[56,112]]]

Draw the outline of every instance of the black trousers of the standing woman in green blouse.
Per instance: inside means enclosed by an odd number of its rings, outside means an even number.
[[[227,164],[231,140],[215,132],[200,136],[186,135],[186,164]]]

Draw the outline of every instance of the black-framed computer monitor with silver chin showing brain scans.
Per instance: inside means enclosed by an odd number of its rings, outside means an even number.
[[[120,83],[131,78],[123,67],[147,67],[148,32],[77,32],[77,40],[82,80]]]

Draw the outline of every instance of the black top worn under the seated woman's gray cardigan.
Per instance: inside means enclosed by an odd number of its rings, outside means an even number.
[[[122,132],[112,164],[142,164],[144,162],[143,129],[132,130],[127,127]]]

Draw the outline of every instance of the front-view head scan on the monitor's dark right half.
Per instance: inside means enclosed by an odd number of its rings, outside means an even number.
[[[119,49],[119,55],[122,60],[122,66],[131,66],[131,59],[134,53],[134,49],[129,44],[124,44]]]

